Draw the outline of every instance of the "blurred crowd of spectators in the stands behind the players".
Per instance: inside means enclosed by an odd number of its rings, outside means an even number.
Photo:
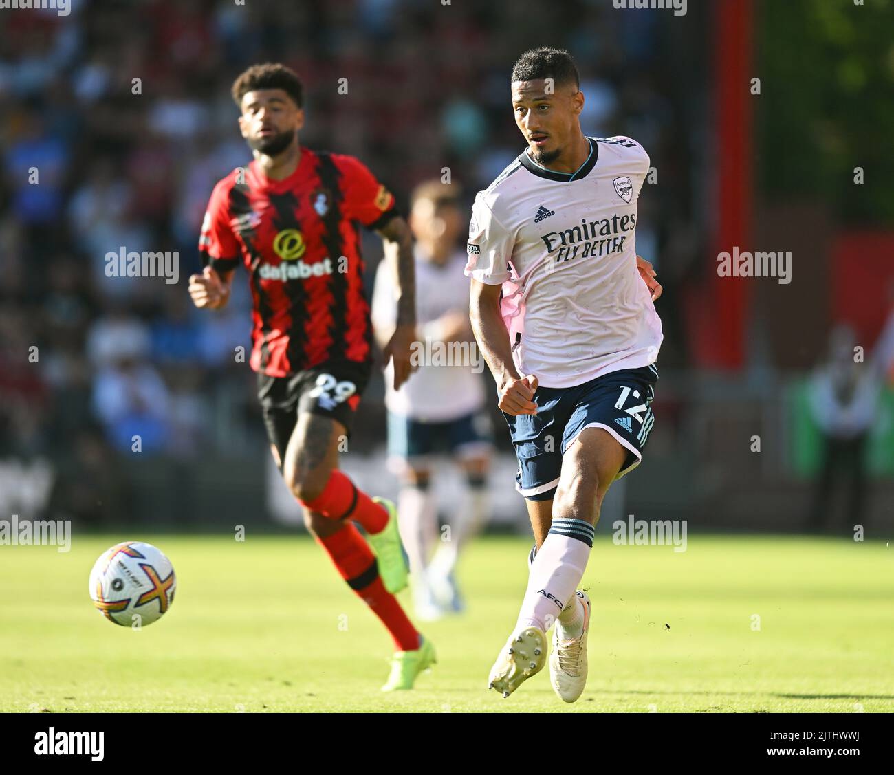
[[[250,158],[230,97],[249,64],[295,68],[302,143],[360,157],[404,205],[444,167],[470,203],[519,154],[509,72],[544,43],[578,60],[585,131],[637,138],[663,174],[687,167],[654,14],[584,0],[568,14],[519,0],[71,5],[4,11],[0,36],[0,459],[52,459],[70,503],[135,434],[143,453],[189,459],[228,451],[215,417],[261,433],[233,357],[249,343],[247,283],[215,315],[185,291],[215,181]],[[637,247],[658,265],[687,197],[645,199]],[[177,252],[180,282],[106,276],[122,248]]]

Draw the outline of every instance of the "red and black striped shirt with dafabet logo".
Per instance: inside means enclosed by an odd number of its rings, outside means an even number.
[[[301,148],[294,173],[256,162],[215,186],[198,249],[218,272],[249,271],[251,367],[287,376],[332,358],[372,358],[358,223],[377,229],[394,198],[353,156]]]

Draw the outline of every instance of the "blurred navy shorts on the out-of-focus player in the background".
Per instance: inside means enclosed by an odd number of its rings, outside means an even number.
[[[392,469],[402,468],[405,462],[425,463],[438,452],[462,459],[490,450],[491,422],[484,412],[437,423],[388,413],[388,455]]]

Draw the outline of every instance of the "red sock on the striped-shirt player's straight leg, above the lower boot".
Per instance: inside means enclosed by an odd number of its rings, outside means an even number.
[[[375,504],[373,504],[375,505]],[[416,651],[419,633],[403,612],[401,603],[385,589],[375,564],[375,554],[358,529],[347,523],[338,533],[317,537],[335,568],[351,589],[363,599],[391,633],[397,651]]]

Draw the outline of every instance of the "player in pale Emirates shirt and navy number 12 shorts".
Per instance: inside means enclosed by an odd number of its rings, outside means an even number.
[[[542,670],[554,624],[552,688],[573,703],[586,684],[590,620],[578,585],[600,506],[639,464],[654,423],[661,286],[634,241],[649,156],[626,137],[584,135],[567,51],[521,55],[511,97],[527,149],[478,192],[465,274],[536,550],[490,687],[509,696]]]

